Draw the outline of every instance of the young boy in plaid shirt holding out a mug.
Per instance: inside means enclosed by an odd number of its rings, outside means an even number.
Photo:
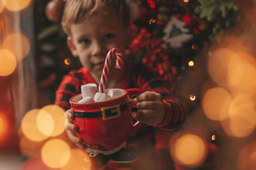
[[[66,133],[70,141],[79,148],[84,149],[86,146],[76,136],[75,132],[78,132],[78,129],[72,124],[74,117],[69,110],[68,100],[81,93],[81,85],[86,83],[99,85],[104,60],[111,48],[119,48],[123,52],[123,66],[122,69],[115,69],[115,59],[112,60],[106,88],[145,90],[136,98],[138,111],[132,113],[136,120],[145,125],[137,135],[128,139],[127,143],[141,141],[142,145],[146,145],[148,140],[155,141],[157,148],[163,148],[161,143],[164,143],[164,136],[167,134],[168,137],[169,133],[158,129],[175,129],[186,118],[183,104],[163,87],[163,82],[157,76],[149,73],[143,66],[132,66],[125,59],[125,47],[132,41],[129,36],[129,21],[129,8],[125,0],[66,1],[61,24],[67,33],[67,43],[72,55],[79,57],[83,67],[71,71],[63,78],[56,91],[55,104],[67,110]],[[147,136],[147,140],[142,139],[143,136]],[[164,146],[168,147],[168,140],[165,141]],[[140,169],[144,168],[140,167]]]

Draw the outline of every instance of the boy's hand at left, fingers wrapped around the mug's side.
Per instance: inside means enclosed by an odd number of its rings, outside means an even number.
[[[82,148],[82,149],[86,148],[86,146],[83,144],[83,140],[76,136],[75,132],[79,132],[79,130],[76,125],[72,124],[72,122],[74,121],[74,116],[72,114],[72,111],[67,110],[65,112],[65,117],[66,117],[65,130],[70,141],[75,143],[76,146],[79,148]]]

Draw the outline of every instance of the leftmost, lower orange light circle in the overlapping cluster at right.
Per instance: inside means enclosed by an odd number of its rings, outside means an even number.
[[[223,120],[228,117],[228,109],[232,97],[227,90],[214,87],[207,90],[202,99],[205,115],[211,120]]]

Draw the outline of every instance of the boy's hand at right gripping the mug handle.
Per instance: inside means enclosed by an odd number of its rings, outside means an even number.
[[[138,101],[138,111],[132,113],[132,116],[136,120],[148,125],[158,125],[163,122],[165,106],[160,94],[156,92],[144,92],[136,100]]]

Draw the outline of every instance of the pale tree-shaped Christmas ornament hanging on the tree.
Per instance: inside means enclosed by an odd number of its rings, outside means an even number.
[[[170,43],[172,48],[180,48],[193,38],[193,35],[189,34],[189,29],[186,28],[186,23],[174,16],[170,18],[163,32],[165,33],[163,40]]]

